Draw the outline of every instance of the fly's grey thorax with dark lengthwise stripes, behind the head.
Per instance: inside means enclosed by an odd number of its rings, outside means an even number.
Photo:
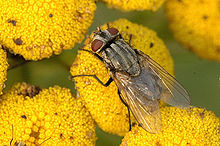
[[[137,54],[123,39],[112,42],[103,50],[102,57],[110,70],[125,72],[130,76],[140,74]]]

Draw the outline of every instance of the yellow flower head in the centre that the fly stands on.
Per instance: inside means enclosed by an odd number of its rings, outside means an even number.
[[[117,28],[127,42],[129,35],[132,34],[133,48],[142,50],[173,74],[173,61],[169,51],[154,31],[126,19],[119,19],[109,25]],[[107,29],[107,25],[102,26],[101,29]],[[86,40],[84,49],[91,50],[92,36]],[[105,64],[85,51],[79,51],[70,72],[72,75],[97,75],[104,83],[110,78]],[[118,96],[115,83],[103,87],[92,77],[77,77],[74,80],[85,106],[99,127],[109,133],[124,135],[129,130],[128,111]],[[134,121],[133,117],[132,121]]]

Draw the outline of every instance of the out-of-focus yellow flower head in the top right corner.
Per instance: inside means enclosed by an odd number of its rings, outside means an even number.
[[[202,58],[220,61],[218,0],[168,0],[166,15],[174,36]]]

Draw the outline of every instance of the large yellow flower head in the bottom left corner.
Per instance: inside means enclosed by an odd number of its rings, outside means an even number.
[[[13,130],[12,130],[13,126]],[[0,100],[0,143],[95,145],[95,123],[81,99],[59,86],[14,85]]]

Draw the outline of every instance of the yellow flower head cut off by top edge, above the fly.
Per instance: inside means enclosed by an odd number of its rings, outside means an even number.
[[[156,11],[165,0],[102,0],[108,6],[124,11],[152,10]]]

